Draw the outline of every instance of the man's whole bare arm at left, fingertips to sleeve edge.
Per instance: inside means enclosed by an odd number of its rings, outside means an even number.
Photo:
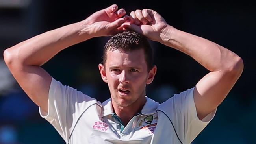
[[[81,22],[32,37],[4,51],[4,61],[26,94],[48,111],[48,92],[52,77],[40,66],[61,50],[92,37],[122,31],[124,9],[112,5]]]

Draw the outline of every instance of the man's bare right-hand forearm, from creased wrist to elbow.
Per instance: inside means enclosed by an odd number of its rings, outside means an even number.
[[[163,44],[190,55],[210,71],[234,70],[241,58],[207,39],[167,26],[160,35]]]

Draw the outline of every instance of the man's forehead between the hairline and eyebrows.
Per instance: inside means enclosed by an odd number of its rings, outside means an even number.
[[[113,50],[107,52],[106,66],[147,67],[143,49],[132,51]]]

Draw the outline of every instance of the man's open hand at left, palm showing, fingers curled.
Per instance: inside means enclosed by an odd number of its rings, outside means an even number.
[[[85,29],[89,28],[93,37],[109,36],[122,32],[121,24],[126,21],[123,18],[126,11],[113,4],[105,9],[97,11],[83,21]]]

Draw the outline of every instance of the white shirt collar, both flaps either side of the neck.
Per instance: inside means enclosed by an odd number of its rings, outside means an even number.
[[[156,109],[158,108],[158,105],[159,105],[158,102],[155,102],[154,100],[152,100],[151,98],[148,98],[146,96],[146,103],[141,110],[141,114],[149,115],[149,114],[156,113]],[[113,108],[112,108],[111,98],[104,101],[102,103],[102,106],[103,106],[102,116],[107,116],[107,115],[114,113]]]

